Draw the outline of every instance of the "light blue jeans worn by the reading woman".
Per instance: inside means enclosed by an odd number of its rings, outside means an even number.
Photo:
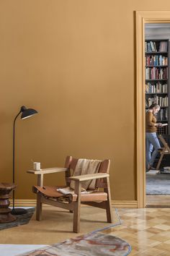
[[[158,148],[161,148],[161,145],[159,144],[156,132],[146,132],[146,168],[148,165],[153,166],[158,154]]]

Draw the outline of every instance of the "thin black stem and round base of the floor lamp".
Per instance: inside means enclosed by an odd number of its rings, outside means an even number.
[[[19,111],[19,113],[17,114],[17,116],[15,117],[14,119],[14,124],[13,124],[13,168],[12,168],[12,176],[13,176],[13,179],[12,179],[12,182],[14,183],[14,156],[15,156],[15,147],[14,147],[14,142],[15,142],[15,121],[17,119],[17,117],[19,116],[19,114],[22,113],[22,109]],[[27,210],[25,210],[24,208],[14,208],[14,190],[13,190],[13,208],[12,208],[12,212],[11,212],[13,215],[22,215],[24,213],[27,213]]]

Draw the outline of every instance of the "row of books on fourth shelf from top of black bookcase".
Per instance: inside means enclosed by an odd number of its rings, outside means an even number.
[[[161,82],[156,82],[156,84],[146,82],[146,93],[168,93],[168,85],[161,84]]]

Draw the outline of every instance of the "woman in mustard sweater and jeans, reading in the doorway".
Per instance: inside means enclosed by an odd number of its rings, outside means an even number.
[[[156,123],[156,114],[160,111],[160,106],[153,103],[146,112],[146,169],[153,168],[153,163],[161,145],[156,135],[157,127],[162,127],[161,123]],[[154,148],[154,150],[153,150]]]

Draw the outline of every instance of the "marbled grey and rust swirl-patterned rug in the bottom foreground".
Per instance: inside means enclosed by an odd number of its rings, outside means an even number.
[[[32,252],[22,254],[22,256],[125,256],[130,251],[130,244],[125,240],[111,234],[95,231],[84,236],[77,236],[74,239],[67,239],[58,244],[35,249]]]

